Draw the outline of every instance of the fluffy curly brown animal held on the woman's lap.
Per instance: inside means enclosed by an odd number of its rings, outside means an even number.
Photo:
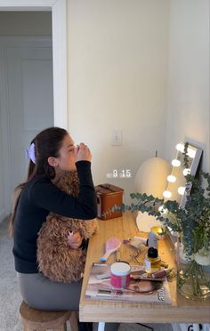
[[[56,184],[60,190],[77,197],[77,171],[66,173]],[[86,251],[69,246],[69,231],[78,230],[83,238],[91,238],[99,230],[96,219],[78,220],[49,214],[38,233],[37,262],[39,271],[53,281],[71,282],[83,277]]]

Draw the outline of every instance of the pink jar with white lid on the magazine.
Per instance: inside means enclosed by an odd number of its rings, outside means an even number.
[[[113,287],[128,287],[130,282],[131,267],[125,262],[111,264],[111,285]]]

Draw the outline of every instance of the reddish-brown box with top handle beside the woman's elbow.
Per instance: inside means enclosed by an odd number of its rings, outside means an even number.
[[[122,216],[122,212],[112,212],[109,214],[103,214],[108,212],[113,206],[121,206],[123,204],[124,190],[111,184],[101,184],[95,186],[97,193],[98,214],[97,217],[101,220],[109,220]]]

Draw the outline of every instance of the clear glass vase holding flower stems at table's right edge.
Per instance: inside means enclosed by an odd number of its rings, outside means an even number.
[[[210,296],[210,265],[187,259],[182,243],[177,245],[177,288],[179,293],[192,300],[206,300]]]

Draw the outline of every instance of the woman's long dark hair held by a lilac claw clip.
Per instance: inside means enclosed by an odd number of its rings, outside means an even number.
[[[12,216],[9,226],[9,232],[11,237],[14,231],[14,218],[17,211],[17,206],[20,199],[20,193],[24,189],[25,185],[36,176],[44,176],[49,179],[55,177],[54,168],[49,165],[48,157],[59,157],[59,150],[61,149],[62,141],[68,132],[60,127],[49,127],[38,133],[36,137],[31,141],[31,144],[35,144],[35,157],[36,164],[31,160],[28,165],[28,178],[26,182],[22,182],[18,185],[14,193],[16,193],[16,198],[13,204]]]

